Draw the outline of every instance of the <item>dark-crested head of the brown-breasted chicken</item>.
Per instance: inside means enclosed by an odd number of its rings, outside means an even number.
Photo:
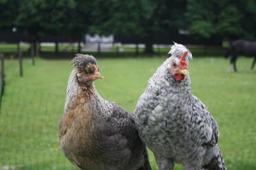
[[[96,79],[103,79],[94,56],[78,53],[73,58],[72,65],[76,66],[76,78],[79,84],[90,85]]]

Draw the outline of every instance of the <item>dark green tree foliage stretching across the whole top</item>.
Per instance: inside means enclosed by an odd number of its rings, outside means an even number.
[[[256,38],[255,0],[0,0],[0,29],[31,39],[86,33],[140,36],[152,52],[154,35],[188,29],[203,38]]]

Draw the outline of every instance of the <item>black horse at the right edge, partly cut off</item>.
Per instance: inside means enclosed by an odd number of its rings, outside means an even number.
[[[234,71],[237,72],[237,66],[235,62],[237,60],[238,55],[253,57],[253,64],[250,67],[250,71],[253,71],[253,67],[256,62],[256,41],[248,41],[248,40],[235,40],[231,43],[230,47],[227,49],[225,53],[225,58],[228,56],[232,56],[231,65],[233,64]],[[229,68],[231,71],[231,66]]]

